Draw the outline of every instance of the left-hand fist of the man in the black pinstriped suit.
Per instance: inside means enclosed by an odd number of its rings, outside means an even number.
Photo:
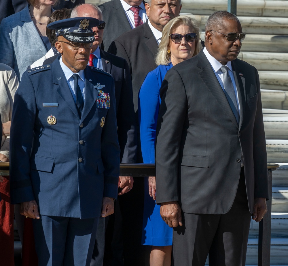
[[[170,227],[182,226],[181,208],[177,201],[161,203],[160,215]]]

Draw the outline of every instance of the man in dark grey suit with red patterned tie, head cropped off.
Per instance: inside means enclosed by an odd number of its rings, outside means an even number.
[[[111,42],[123,33],[135,28],[131,7],[139,7],[139,16],[142,22],[147,20],[144,0],[111,0],[99,5],[103,13],[103,20],[107,23],[103,37],[102,49],[108,50]]]

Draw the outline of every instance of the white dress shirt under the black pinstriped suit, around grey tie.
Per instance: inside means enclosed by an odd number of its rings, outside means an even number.
[[[209,63],[211,64],[212,66],[212,69],[216,75],[216,78],[218,79],[223,91],[225,92],[224,90],[224,84],[223,84],[223,72],[221,70],[221,66],[222,64],[217,60],[215,59],[212,55],[209,54],[208,50],[206,49],[206,47],[204,47],[203,49],[203,52],[204,54],[206,55]],[[236,87],[236,82],[235,82],[235,78],[234,78],[234,72],[232,70],[232,65],[231,65],[231,62],[227,62],[226,66],[228,67],[228,73],[229,73],[229,76],[232,80],[232,84],[233,84],[233,87],[234,87],[234,91],[235,91],[235,95],[236,95],[236,100],[237,100],[237,105],[238,105],[238,110],[239,110],[239,115],[240,115],[240,105],[239,105],[239,97],[238,97],[238,90],[237,90],[237,87]]]

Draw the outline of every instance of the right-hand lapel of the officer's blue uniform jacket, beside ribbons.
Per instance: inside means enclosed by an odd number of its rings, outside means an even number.
[[[95,89],[93,87],[94,85],[88,80],[88,77],[92,76],[89,68],[86,68],[84,70],[84,73],[85,73],[85,100],[80,122],[82,122],[87,117],[92,106],[95,104],[96,98],[98,96],[98,90]]]

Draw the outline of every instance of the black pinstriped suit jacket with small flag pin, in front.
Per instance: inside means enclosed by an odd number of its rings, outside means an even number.
[[[250,212],[254,198],[268,198],[259,76],[244,61],[231,63],[239,125],[203,50],[167,72],[156,133],[157,203],[179,201],[185,213],[227,213],[242,161]]]

